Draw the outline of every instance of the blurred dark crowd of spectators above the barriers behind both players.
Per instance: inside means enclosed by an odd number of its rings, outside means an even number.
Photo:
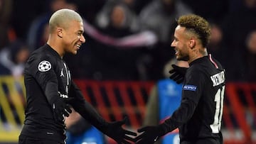
[[[64,57],[74,78],[164,78],[176,19],[194,13],[210,21],[208,52],[227,81],[256,82],[256,0],[0,0],[1,75],[22,75],[28,55],[46,43],[51,13],[62,8],[85,23],[86,43]]]

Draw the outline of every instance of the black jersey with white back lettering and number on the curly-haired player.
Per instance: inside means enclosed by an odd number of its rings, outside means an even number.
[[[165,121],[166,131],[178,127],[181,141],[218,138],[223,116],[225,70],[211,55],[189,65],[181,105]]]

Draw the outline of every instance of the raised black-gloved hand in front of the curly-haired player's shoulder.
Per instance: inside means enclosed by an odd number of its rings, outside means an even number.
[[[171,65],[173,67],[172,70],[169,71],[171,74],[170,79],[173,79],[177,84],[181,84],[183,82],[187,67],[178,67],[177,65]]]

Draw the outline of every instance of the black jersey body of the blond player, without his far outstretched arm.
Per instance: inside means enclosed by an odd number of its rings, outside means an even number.
[[[35,50],[26,63],[24,81],[26,119],[21,133],[53,140],[65,139],[65,124],[54,120],[53,106],[49,103],[60,94],[68,95],[70,89],[70,71],[63,59],[49,45]],[[47,84],[53,87],[46,87]]]

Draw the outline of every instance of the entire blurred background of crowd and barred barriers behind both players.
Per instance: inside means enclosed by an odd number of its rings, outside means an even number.
[[[85,20],[86,43],[65,57],[75,82],[107,120],[128,116],[132,131],[142,126],[151,88],[168,77],[176,18],[206,18],[208,52],[227,72],[224,142],[256,143],[256,0],[0,0],[0,144],[17,143],[26,105],[23,64],[46,43],[48,18],[61,8]]]

